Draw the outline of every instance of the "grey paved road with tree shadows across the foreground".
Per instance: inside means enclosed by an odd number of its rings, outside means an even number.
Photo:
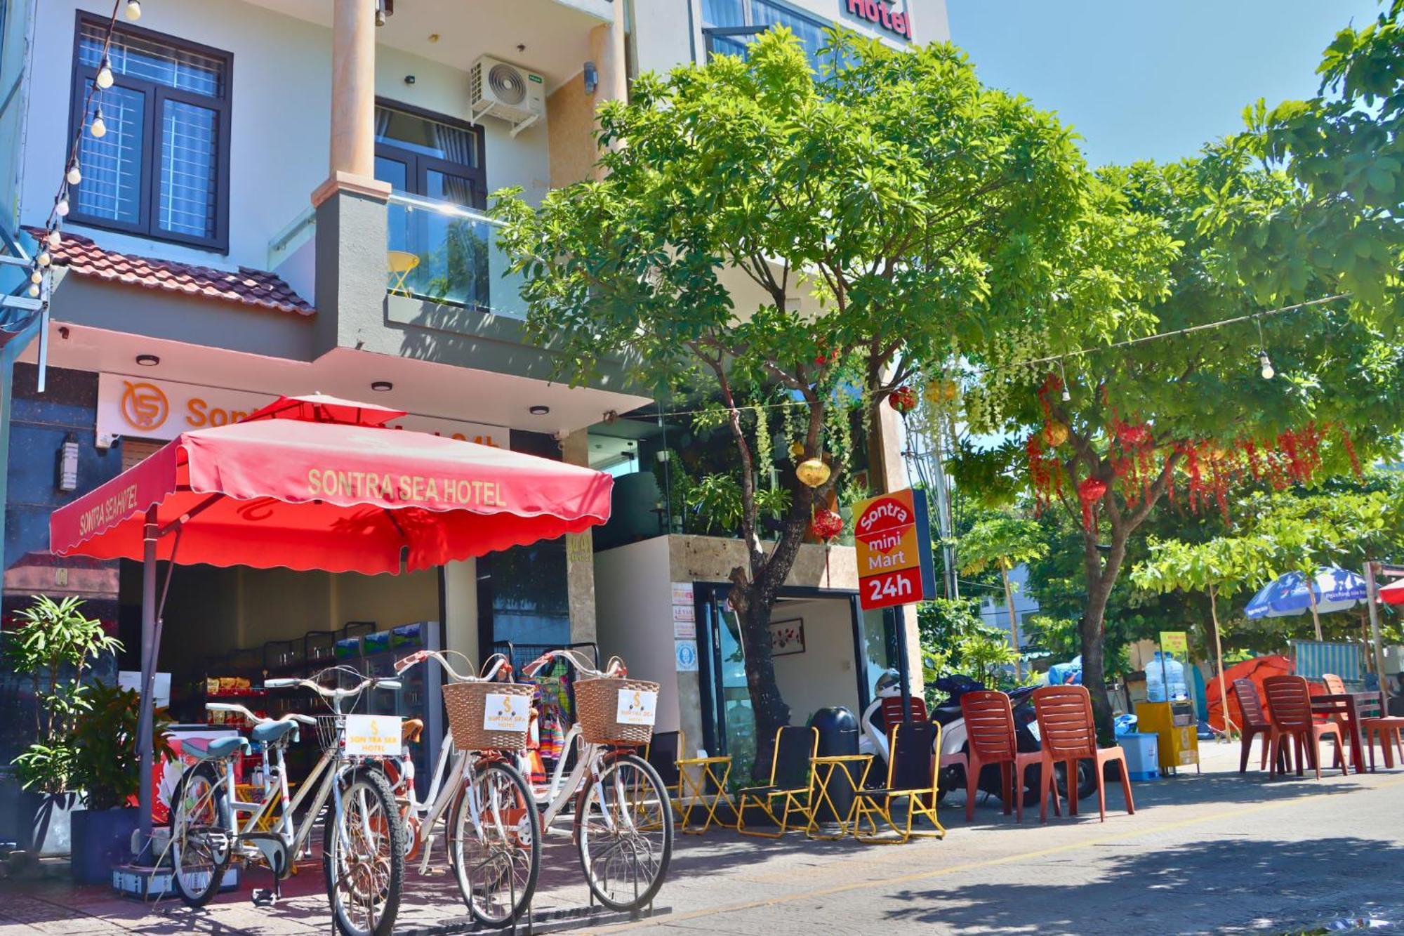
[[[1300,933],[1346,916],[1404,921],[1404,770],[1269,781],[1240,777],[1236,748],[1210,746],[1203,774],[1134,791],[1133,817],[1109,791],[1105,824],[1084,801],[1082,817],[1047,825],[1036,815],[1016,825],[994,801],[966,825],[955,795],[942,810],[946,839],[907,846],[678,836],[660,897],[673,912],[597,932]],[[101,888],[10,885],[0,935],[327,932],[316,876],[300,877],[302,895],[274,911],[244,891],[201,914]],[[411,887],[406,928],[462,914],[442,877]],[[550,843],[541,905],[584,897],[573,849]]]

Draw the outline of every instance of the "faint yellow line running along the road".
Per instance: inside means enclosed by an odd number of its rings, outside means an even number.
[[[1241,815],[1252,815],[1254,812],[1268,812],[1272,810],[1285,810],[1287,807],[1300,805],[1306,800],[1314,800],[1317,797],[1339,797],[1351,795],[1353,793],[1366,793],[1370,790],[1384,790],[1387,787],[1397,787],[1404,783],[1404,777],[1393,777],[1382,783],[1372,784],[1369,787],[1360,787],[1358,790],[1351,790],[1346,794],[1331,793],[1323,790],[1321,793],[1309,793],[1303,797],[1289,797],[1283,800],[1273,800],[1272,802],[1259,802],[1257,805],[1240,807],[1237,810],[1224,810],[1223,812],[1210,812],[1209,815],[1199,815],[1189,819],[1178,819],[1175,822],[1163,822],[1160,825],[1153,825],[1148,828],[1139,828],[1127,832],[1118,832],[1116,835],[1102,835],[1095,839],[1084,839],[1082,842],[1070,842],[1067,845],[1054,845],[1053,847],[1039,849],[1036,852],[1018,852],[1015,854],[1005,854],[1001,857],[981,859],[979,862],[965,862],[962,864],[949,864],[946,867],[932,869],[929,871],[914,871],[911,874],[899,874],[896,877],[870,878],[865,881],[852,881],[849,884],[835,884],[833,887],[821,887],[812,891],[796,891],[793,894],[781,894],[778,897],[768,897],[758,901],[748,901],[746,904],[729,904],[727,906],[716,906],[710,909],[687,911],[684,914],[668,914],[667,916],[660,916],[657,919],[642,919],[635,923],[623,923],[619,926],[607,926],[598,933],[618,933],[628,929],[639,929],[643,926],[658,926],[663,923],[680,923],[689,919],[701,919],[703,916],[716,916],[717,914],[734,914],[737,911],[757,909],[761,906],[775,906],[778,904],[790,904],[799,899],[814,899],[820,897],[833,897],[834,894],[847,894],[848,891],[861,891],[873,887],[883,887],[890,884],[908,884],[911,881],[927,881],[936,877],[946,877],[951,874],[959,874],[962,871],[973,871],[981,867],[995,867],[1000,864],[1012,864],[1015,862],[1028,862],[1032,859],[1049,857],[1050,854],[1067,854],[1068,852],[1078,852],[1081,849],[1097,847],[1099,845],[1108,845],[1112,842],[1125,842],[1127,839],[1139,839],[1147,835],[1160,835],[1161,832],[1171,832],[1175,829],[1185,829],[1195,825],[1205,825],[1206,822],[1219,822],[1223,819],[1231,819]],[[1193,804],[1177,804],[1177,805],[1193,805]]]

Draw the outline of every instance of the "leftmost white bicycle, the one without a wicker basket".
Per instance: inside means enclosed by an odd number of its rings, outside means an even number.
[[[261,860],[278,883],[292,873],[292,859],[303,853],[317,815],[330,795],[323,821],[322,864],[337,932],[343,936],[389,936],[404,887],[404,826],[395,795],[376,760],[345,753],[345,714],[341,706],[371,687],[399,689],[388,679],[366,679],[334,666],[317,677],[350,675],[350,689],[327,689],[310,679],[270,679],[267,689],[302,686],[316,691],[330,715],[260,718],[243,706],[208,703],[212,711],[234,711],[254,722],[250,732],[264,743],[264,795],[243,802],[236,795],[233,760],[249,750],[241,736],[216,738],[199,763],[187,770],[171,797],[170,854],[176,890],[191,906],[202,906],[219,891],[232,860]],[[298,739],[299,725],[314,724],[322,758],[298,795],[289,800],[284,750]],[[306,804],[306,808],[303,808]],[[281,807],[281,815],[272,812]],[[243,822],[239,817],[247,817]],[[264,828],[260,828],[260,824]],[[270,828],[271,826],[271,828]]]

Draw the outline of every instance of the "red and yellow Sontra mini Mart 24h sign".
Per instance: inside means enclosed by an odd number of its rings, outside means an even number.
[[[927,493],[907,488],[854,505],[858,600],[863,609],[913,604],[936,594]]]

